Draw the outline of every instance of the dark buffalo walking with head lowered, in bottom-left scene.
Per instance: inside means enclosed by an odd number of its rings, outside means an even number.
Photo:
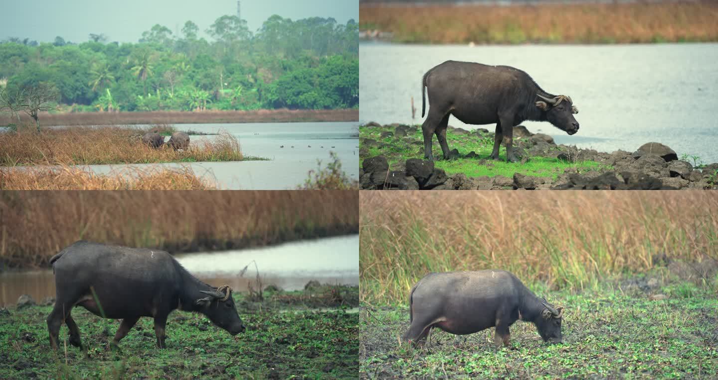
[[[120,319],[117,346],[140,317],[154,318],[157,346],[164,349],[164,326],[174,309],[195,311],[232,335],[244,331],[229,286],[215,288],[197,280],[169,253],[78,241],[50,259],[55,273],[55,308],[47,316],[50,344],[64,321],[70,344],[82,348],[78,325],[70,315],[83,306],[97,316]]]

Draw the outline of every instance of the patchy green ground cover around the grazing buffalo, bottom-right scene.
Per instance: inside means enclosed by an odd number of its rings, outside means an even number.
[[[566,307],[564,343],[545,344],[531,323],[511,326],[510,348],[496,349],[493,328],[468,336],[432,330],[424,349],[400,345],[409,328],[406,301],[363,308],[360,375],[459,379],[715,379],[718,376],[715,289],[675,282],[651,301],[625,283],[585,291],[547,291]],[[633,288],[631,288],[633,289]]]

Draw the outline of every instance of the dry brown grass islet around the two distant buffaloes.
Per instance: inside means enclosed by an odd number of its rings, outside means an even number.
[[[227,132],[193,137],[187,151],[153,149],[132,127],[72,127],[0,133],[0,166],[98,165],[149,162],[243,160],[239,141]]]

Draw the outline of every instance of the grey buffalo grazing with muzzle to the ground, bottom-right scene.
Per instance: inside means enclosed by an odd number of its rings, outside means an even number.
[[[521,319],[534,323],[544,341],[561,343],[563,313],[506,271],[429,273],[411,288],[404,341],[423,344],[433,327],[465,335],[495,326],[495,344],[508,346],[508,328]]]

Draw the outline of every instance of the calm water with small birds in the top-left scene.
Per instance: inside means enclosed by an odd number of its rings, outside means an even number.
[[[215,179],[225,190],[284,190],[297,187],[307,179],[309,170],[317,169],[317,160],[322,160],[322,167],[326,166],[330,161],[330,151],[337,153],[342,169],[350,178],[358,180],[359,177],[358,122],[178,124],[174,127],[177,130],[211,133],[225,130],[238,137],[244,155],[271,159],[190,164],[196,175]],[[192,136],[191,140],[202,138],[212,139],[213,136]],[[89,167],[94,172],[107,174],[123,167],[148,165],[180,167],[187,163]]]

